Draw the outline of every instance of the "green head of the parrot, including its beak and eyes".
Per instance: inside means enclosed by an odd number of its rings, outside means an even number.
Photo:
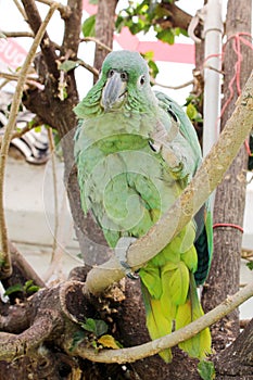
[[[146,111],[155,101],[148,64],[138,52],[110,53],[103,62],[100,80],[103,83],[100,104],[105,112],[127,103],[130,109]]]

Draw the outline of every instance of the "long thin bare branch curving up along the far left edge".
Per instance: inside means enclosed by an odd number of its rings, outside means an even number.
[[[40,25],[40,28],[34,39],[30,50],[27,53],[25,62],[21,68],[20,78],[16,84],[15,94],[12,100],[10,118],[5,126],[5,131],[2,139],[1,151],[0,151],[0,258],[1,258],[0,277],[1,278],[9,277],[12,271],[10,250],[9,250],[9,243],[8,243],[7,223],[5,223],[5,216],[4,216],[4,200],[3,200],[4,174],[5,174],[5,163],[7,163],[8,151],[11,142],[12,132],[15,127],[16,116],[18,113],[23,88],[26,81],[26,75],[28,73],[29,65],[33,62],[33,59],[36,54],[36,50],[45,35],[45,30],[55,9],[56,9],[55,5],[52,5],[50,8],[48,14],[46,15],[45,21]]]

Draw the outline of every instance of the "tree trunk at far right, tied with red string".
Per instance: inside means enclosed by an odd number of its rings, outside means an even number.
[[[239,7],[236,0],[228,1],[226,23],[228,41],[225,46],[224,55],[225,97],[223,102],[227,106],[222,115],[222,129],[226,121],[230,117],[240,92],[236,87],[236,80],[232,81],[233,78],[239,79],[240,86],[243,87],[252,69],[252,50],[239,40],[240,34],[248,41],[251,40],[251,0],[244,1],[243,7]],[[235,68],[237,68],[236,74]],[[236,77],[233,77],[235,75]],[[233,93],[229,91],[231,83]],[[214,225],[232,224],[242,226],[245,204],[246,167],[248,154],[243,145],[226,173],[223,183],[216,190]],[[242,232],[240,229],[233,227],[218,227],[214,229],[214,257],[202,295],[202,303],[205,311],[214,308],[228,294],[233,294],[238,291],[240,284],[241,243]],[[239,313],[237,309],[213,327],[215,349],[224,349],[238,333]]]

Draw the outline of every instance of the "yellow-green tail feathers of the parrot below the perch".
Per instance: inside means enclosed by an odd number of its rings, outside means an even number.
[[[152,340],[169,334],[204,314],[198,297],[194,275],[189,269],[190,261],[187,257],[190,256],[192,261],[193,251],[194,246],[189,252],[180,254],[178,261],[174,256],[173,262],[164,262],[161,252],[139,271],[147,327]],[[210,330],[206,328],[178,345],[189,356],[201,359],[211,353]],[[160,355],[166,363],[172,362],[170,349],[162,351]]]

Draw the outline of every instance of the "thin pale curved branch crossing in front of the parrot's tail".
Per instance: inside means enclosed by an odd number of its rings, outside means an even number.
[[[202,331],[206,327],[213,325],[225,315],[240,306],[243,302],[249,300],[253,295],[253,282],[249,283],[245,288],[228,296],[222,304],[216,306],[213,311],[208,312],[201,318],[187,325],[186,327],[174,331],[173,333],[163,338],[156,339],[149,343],[144,343],[138,346],[121,350],[104,350],[96,352],[92,349],[86,349],[84,344],[78,344],[69,353],[72,355],[78,355],[83,358],[87,358],[92,362],[99,363],[131,363],[142,359],[148,356],[157,354],[159,352],[175,346],[176,344],[184,342],[187,339],[194,337],[198,332]],[[71,342],[68,342],[71,344]],[[69,346],[66,346],[69,351]]]

